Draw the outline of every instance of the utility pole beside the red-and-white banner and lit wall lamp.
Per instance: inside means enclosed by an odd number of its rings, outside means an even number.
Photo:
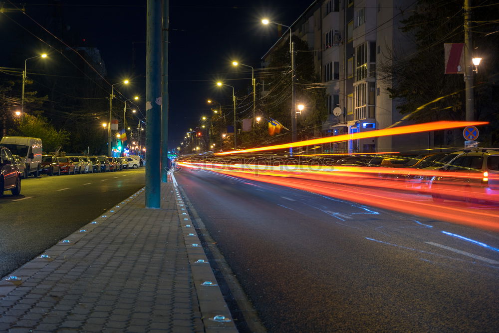
[[[475,120],[475,99],[473,86],[475,84],[475,78],[473,73],[473,39],[472,32],[470,30],[470,1],[465,0],[464,5],[464,18],[465,18],[465,96],[466,96],[466,121]]]

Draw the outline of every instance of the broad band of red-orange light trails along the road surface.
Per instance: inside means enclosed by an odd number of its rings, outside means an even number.
[[[408,214],[428,216],[449,222],[480,227],[488,230],[499,231],[499,212],[468,209],[466,207],[434,203],[430,198],[421,201],[413,193],[426,192],[429,189],[414,189],[407,187],[405,179],[380,178],[379,172],[389,175],[390,171],[400,174],[420,175],[449,175],[436,170],[417,170],[404,168],[368,168],[368,167],[329,167],[328,171],[300,169],[299,171],[285,171],[282,166],[258,166],[245,164],[224,163],[190,163],[179,162],[178,165],[197,170],[213,171],[220,174],[250,179],[258,182],[271,183],[291,187],[329,197],[347,201],[354,201],[370,206],[381,207],[389,210],[400,211]],[[264,168],[260,168],[264,167]],[[376,171],[375,171],[376,170]],[[369,172],[364,172],[369,171]],[[453,176],[457,176],[453,175]],[[480,175],[463,175],[463,177],[482,178]],[[352,186],[356,185],[356,186]],[[402,192],[401,192],[402,191]],[[458,197],[470,196],[498,203],[499,195],[484,193],[469,193],[457,189],[455,184],[442,183],[432,192],[455,195]],[[411,193],[412,192],[412,193]],[[472,191],[473,192],[473,191]]]

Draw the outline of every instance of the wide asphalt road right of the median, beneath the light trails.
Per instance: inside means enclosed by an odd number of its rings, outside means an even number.
[[[175,176],[269,332],[499,331],[496,232],[212,172]]]

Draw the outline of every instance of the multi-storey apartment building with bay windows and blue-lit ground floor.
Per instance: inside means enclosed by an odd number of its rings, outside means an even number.
[[[329,114],[322,136],[387,128],[401,120],[397,101],[387,92],[390,82],[379,80],[377,68],[390,63],[392,52],[410,51],[412,45],[399,26],[412,4],[409,0],[316,0],[291,24],[291,33],[306,40],[314,52],[315,70],[326,89]],[[262,57],[262,67],[276,47],[289,41],[288,31]],[[350,140],[332,145],[331,150],[421,150],[429,142],[428,133],[399,135]]]

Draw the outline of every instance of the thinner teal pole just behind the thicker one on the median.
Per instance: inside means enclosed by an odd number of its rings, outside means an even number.
[[[169,0],[163,0],[163,56],[161,62],[161,182],[168,182],[168,14]]]

